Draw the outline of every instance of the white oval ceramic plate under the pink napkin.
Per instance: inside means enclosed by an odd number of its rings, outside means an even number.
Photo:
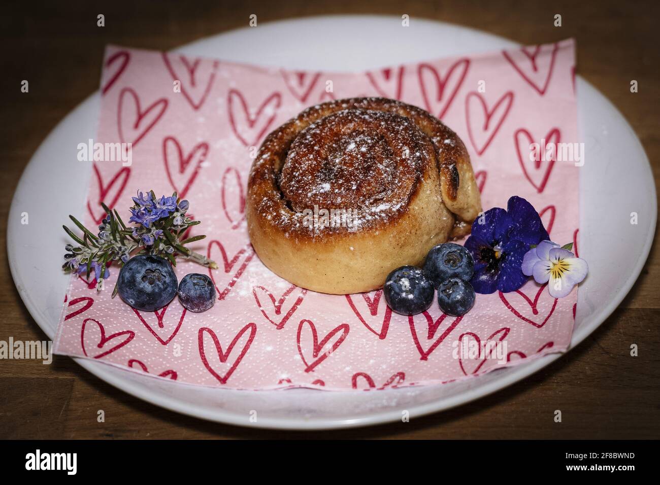
[[[402,28],[397,17],[327,16],[246,27],[178,51],[290,69],[358,71],[513,46],[490,34],[427,20],[413,18],[408,28]],[[9,214],[7,250],[16,287],[51,339],[69,280],[60,269],[65,245],[61,225],[67,214],[80,215],[84,203],[82,191],[67,187],[89,175],[90,166],[77,161],[77,144],[96,136],[99,106],[96,92],[50,133],[26,167]],[[594,331],[632,287],[649,253],[657,216],[655,185],[642,145],[616,108],[579,77],[578,111],[586,154],[580,177],[579,252],[589,261],[590,273],[580,285],[572,347]],[[20,222],[23,212],[29,214],[27,225]],[[631,212],[639,214],[636,226],[630,224]],[[402,410],[414,418],[467,403],[523,379],[559,356],[457,383],[374,393],[211,389],[75,360],[127,393],[184,414],[242,426],[323,429],[400,420]],[[251,410],[257,410],[256,422],[249,420]]]

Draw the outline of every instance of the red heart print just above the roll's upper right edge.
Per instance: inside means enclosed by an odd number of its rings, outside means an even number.
[[[460,59],[447,69],[444,77],[430,64],[421,63],[417,67],[417,77],[426,111],[442,119],[465,81],[469,65],[469,59]]]

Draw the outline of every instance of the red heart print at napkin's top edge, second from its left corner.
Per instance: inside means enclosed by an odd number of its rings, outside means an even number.
[[[181,82],[183,97],[197,111],[213,86],[219,61],[188,59],[185,55],[163,53],[163,61],[174,81]]]

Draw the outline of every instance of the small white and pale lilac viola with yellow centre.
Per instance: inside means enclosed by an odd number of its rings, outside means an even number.
[[[553,298],[567,296],[589,271],[587,261],[548,240],[525,253],[521,269],[525,275],[534,276],[537,283],[548,283]]]

